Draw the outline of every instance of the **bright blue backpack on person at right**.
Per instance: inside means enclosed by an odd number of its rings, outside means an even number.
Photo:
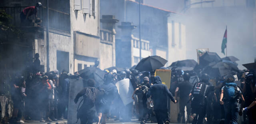
[[[235,100],[238,98],[240,89],[236,85],[236,83],[225,83],[224,86],[224,97],[228,100]]]

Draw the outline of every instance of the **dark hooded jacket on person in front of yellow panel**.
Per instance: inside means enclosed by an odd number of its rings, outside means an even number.
[[[172,93],[168,90],[167,86],[162,84],[159,76],[154,77],[154,84],[150,86],[147,92],[147,97],[152,97],[154,103],[154,110],[168,110],[167,96],[175,102]]]

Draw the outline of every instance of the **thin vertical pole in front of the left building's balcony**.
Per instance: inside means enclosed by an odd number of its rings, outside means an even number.
[[[49,0],[47,0],[47,23],[46,23],[46,70],[50,71],[50,56],[49,56]]]

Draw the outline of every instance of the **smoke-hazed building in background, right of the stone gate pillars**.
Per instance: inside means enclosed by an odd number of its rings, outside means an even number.
[[[116,39],[122,39],[122,29],[117,27],[122,25],[121,22],[132,22],[137,27],[132,30],[132,34],[139,38],[138,0],[100,0],[100,11],[101,15],[114,15],[120,20],[116,25]],[[150,41],[149,50],[152,55],[168,60],[166,66],[186,58],[186,26],[179,19],[181,16],[141,4],[141,38]]]

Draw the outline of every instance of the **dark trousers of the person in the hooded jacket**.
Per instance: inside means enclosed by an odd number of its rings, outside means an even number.
[[[156,113],[157,124],[163,124],[166,121],[170,122],[168,110],[154,110]]]

